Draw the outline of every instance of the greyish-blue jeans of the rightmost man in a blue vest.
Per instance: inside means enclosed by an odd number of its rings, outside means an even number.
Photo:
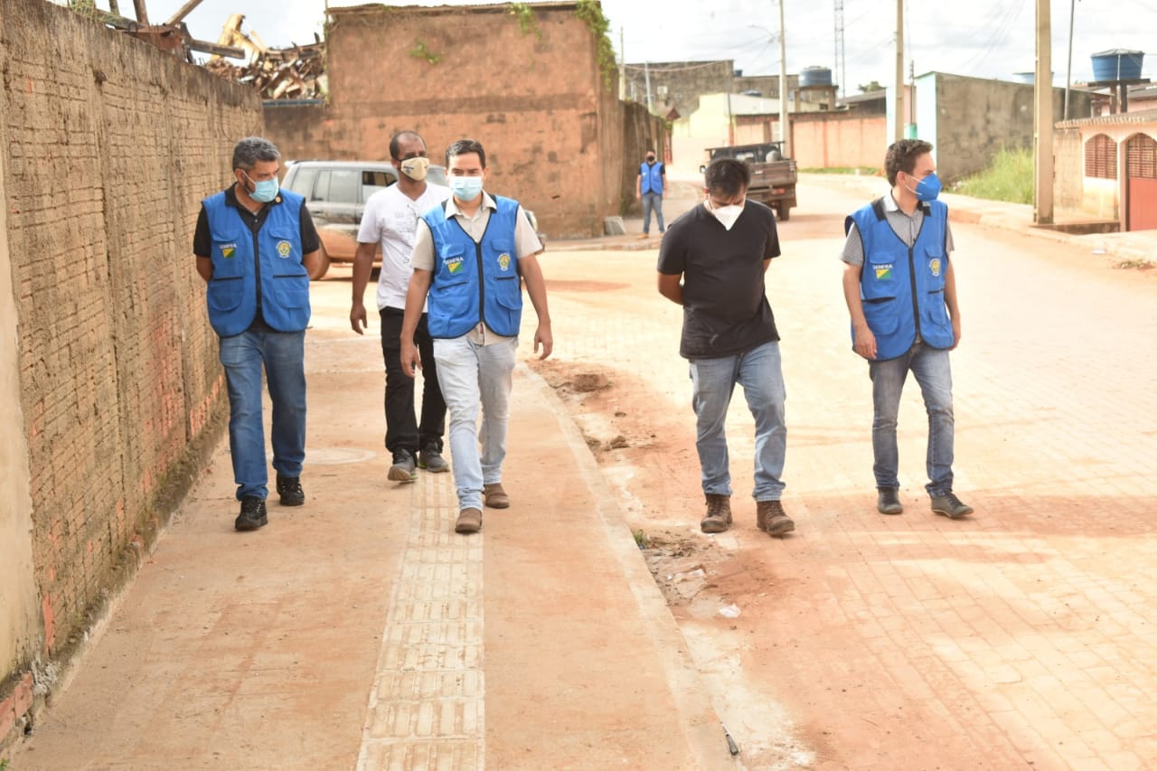
[[[896,424],[900,413],[900,392],[908,370],[916,377],[928,411],[929,495],[952,491],[952,369],[948,351],[916,343],[902,357],[887,361],[870,361],[871,395],[875,416],[871,424],[871,447],[876,462],[876,487],[899,487],[897,477],[900,453],[896,447]]]

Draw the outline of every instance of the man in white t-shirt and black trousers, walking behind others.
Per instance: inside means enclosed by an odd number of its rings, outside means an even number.
[[[450,470],[442,457],[445,402],[437,383],[434,339],[427,326],[426,308],[414,330],[414,343],[422,361],[421,421],[414,417],[414,379],[401,369],[401,320],[413,273],[410,256],[414,250],[418,220],[449,198],[450,189],[426,179],[430,166],[426,142],[412,131],[403,131],[390,140],[390,160],[400,172],[398,181],[369,197],[358,230],[349,324],[359,335],[366,329],[362,296],[374,266],[374,252],[381,243],[377,310],[385,361],[385,448],[393,456],[388,478],[413,482],[419,468],[433,473]]]

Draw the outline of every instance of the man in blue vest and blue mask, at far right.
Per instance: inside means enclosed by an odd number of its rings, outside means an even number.
[[[872,382],[876,508],[900,514],[896,425],[908,372],[928,411],[931,511],[950,519],[972,514],[952,492],[952,372],[949,351],[960,343],[960,308],[949,254],[948,206],[936,200],[933,146],[901,139],[887,148],[890,194],[845,220],[843,298],[852,343],[868,360]]]

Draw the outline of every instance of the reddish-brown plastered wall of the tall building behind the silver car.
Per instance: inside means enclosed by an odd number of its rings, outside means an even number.
[[[331,8],[330,103],[266,111],[286,157],[385,159],[412,128],[432,157],[454,140],[482,142],[487,189],[517,198],[552,237],[602,233],[619,196],[603,153],[603,105],[613,98],[595,36],[573,3],[530,6],[526,29],[509,6]]]

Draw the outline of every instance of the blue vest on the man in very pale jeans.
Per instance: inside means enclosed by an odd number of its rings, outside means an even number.
[[[479,322],[514,337],[522,324],[522,282],[515,254],[518,201],[494,196],[481,242],[448,216],[447,204],[422,215],[434,236],[434,271],[428,296],[430,337],[462,337]]]

